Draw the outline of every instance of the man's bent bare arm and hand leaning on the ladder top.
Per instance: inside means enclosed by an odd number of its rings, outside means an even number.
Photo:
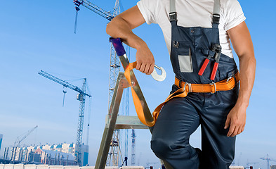
[[[117,15],[106,27],[108,35],[114,38],[121,38],[129,46],[137,49],[136,69],[150,75],[154,69],[155,59],[147,44],[135,35],[132,30],[145,23],[143,15],[137,6],[133,6],[120,15]]]

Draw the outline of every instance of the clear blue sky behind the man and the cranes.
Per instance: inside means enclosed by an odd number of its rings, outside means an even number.
[[[92,2],[106,11],[112,11],[114,7],[114,0]],[[246,130],[237,137],[236,164],[258,162],[254,165],[255,168],[265,168],[266,163],[260,157],[269,154],[276,159],[276,1],[239,2],[247,17],[246,22],[254,42],[257,70],[247,109]],[[137,0],[121,1],[124,9],[131,8],[136,3]],[[75,35],[72,1],[1,0],[0,4],[2,147],[13,145],[16,137],[35,125],[39,125],[37,131],[29,135],[25,144],[75,142],[79,112],[77,93],[67,89],[63,107],[63,86],[37,73],[44,70],[63,80],[86,77],[93,96],[89,163],[94,165],[108,109],[110,43],[109,36],[105,33],[108,20],[81,6]],[[147,42],[156,64],[167,72],[164,82],[156,82],[152,77],[136,71],[147,104],[153,111],[169,94],[173,82],[169,54],[158,25],[144,24],[133,32]],[[131,60],[135,60],[133,49]],[[81,86],[81,81],[72,84]],[[129,103],[129,114],[135,115],[131,99]],[[136,135],[136,164],[158,162],[150,151],[150,133],[147,130],[136,130]],[[200,146],[199,137],[199,131],[192,135],[193,146]],[[86,131],[84,141],[85,139]],[[129,158],[130,145],[131,142]],[[3,156],[3,149],[0,156]]]

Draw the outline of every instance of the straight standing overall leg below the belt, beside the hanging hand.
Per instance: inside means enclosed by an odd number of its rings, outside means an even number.
[[[237,100],[237,87],[206,94],[201,114],[202,159],[200,168],[229,169],[235,156],[235,137],[227,137],[225,121]]]

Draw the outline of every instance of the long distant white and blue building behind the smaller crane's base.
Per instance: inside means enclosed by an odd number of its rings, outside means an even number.
[[[81,165],[88,164],[88,146],[81,146]],[[74,161],[75,144],[24,146],[11,149],[11,160],[48,165],[77,165]]]

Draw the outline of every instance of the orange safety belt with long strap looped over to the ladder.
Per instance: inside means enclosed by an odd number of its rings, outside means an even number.
[[[133,68],[136,68],[136,62],[130,63],[124,73],[126,80],[129,82],[130,86],[132,86],[132,85],[131,85],[131,75],[130,75],[129,71],[133,70]],[[235,87],[235,85],[237,84],[237,82],[239,82],[239,73],[236,73],[235,76],[230,77],[227,80],[222,80],[222,81],[216,82],[216,83],[213,82],[211,84],[190,84],[190,83],[186,83],[186,82],[181,82],[176,77],[175,84],[179,89],[176,92],[174,92],[173,94],[170,94],[169,97],[162,104],[160,104],[159,106],[157,106],[157,108],[155,108],[155,111],[152,113],[152,115],[153,115],[152,122],[148,122],[147,120],[145,120],[143,106],[142,106],[140,100],[138,99],[136,92],[134,92],[132,87],[131,87],[131,91],[132,91],[131,93],[132,93],[134,106],[136,108],[136,113],[138,115],[139,120],[144,125],[152,127],[153,125],[155,125],[155,122],[158,118],[159,112],[161,111],[162,107],[169,100],[176,98],[176,97],[185,97],[190,92],[216,93],[217,91],[227,91],[227,90],[233,89]]]

